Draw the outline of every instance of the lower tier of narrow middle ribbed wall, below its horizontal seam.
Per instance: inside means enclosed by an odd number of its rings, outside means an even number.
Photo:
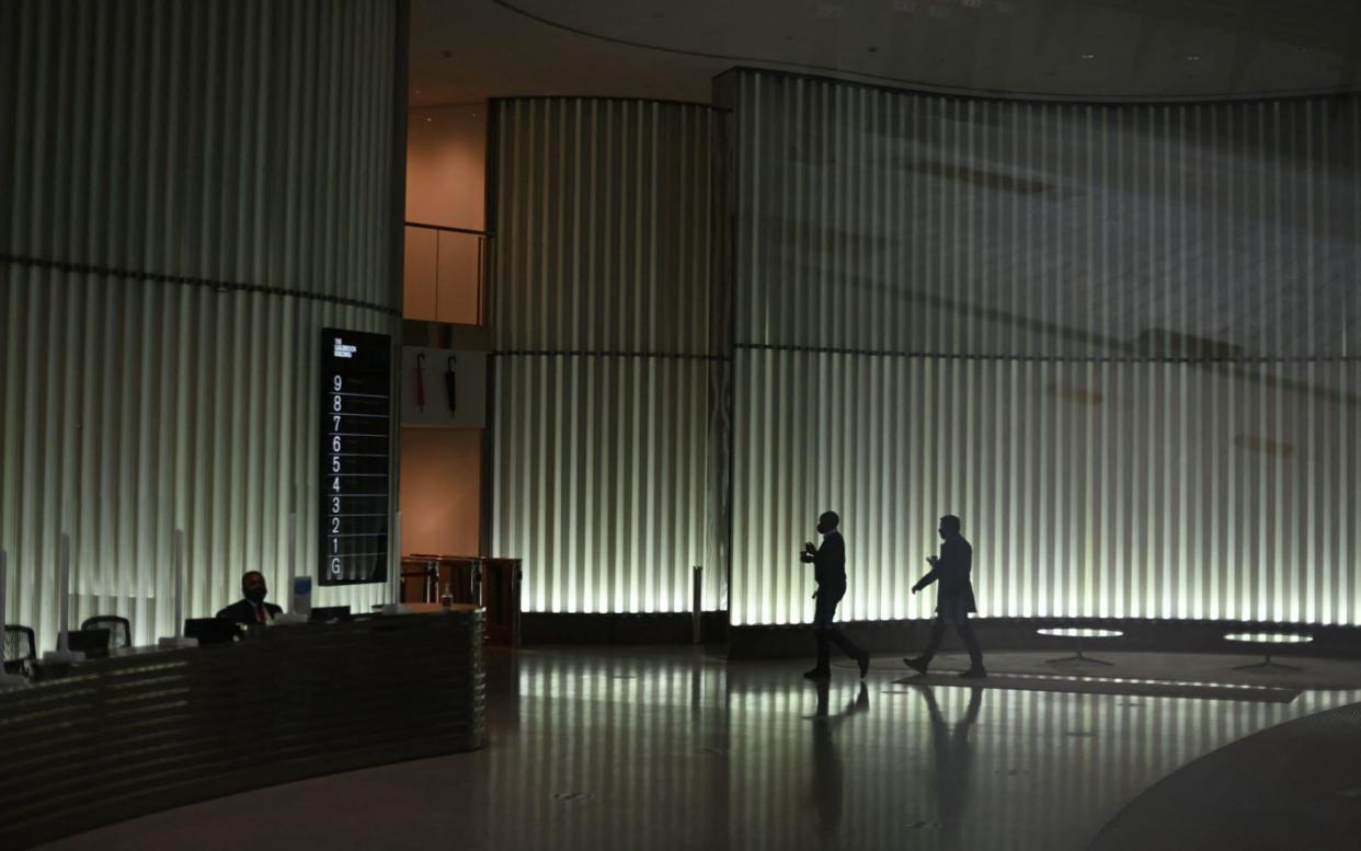
[[[705,519],[715,368],[666,358],[498,362],[494,549],[524,559],[525,610],[690,610],[691,568],[715,545]],[[723,578],[705,574],[713,609]]]

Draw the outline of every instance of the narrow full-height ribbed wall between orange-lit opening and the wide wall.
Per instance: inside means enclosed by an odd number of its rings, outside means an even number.
[[[495,106],[493,548],[531,612],[723,608],[710,488],[717,113]]]

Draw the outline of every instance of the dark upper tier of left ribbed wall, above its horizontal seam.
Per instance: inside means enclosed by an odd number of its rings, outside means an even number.
[[[387,306],[399,10],[5,3],[4,251]]]

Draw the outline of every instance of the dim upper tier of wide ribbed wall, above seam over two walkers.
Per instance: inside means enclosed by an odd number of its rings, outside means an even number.
[[[1361,97],[1093,106],[723,83],[738,344],[1358,353]]]

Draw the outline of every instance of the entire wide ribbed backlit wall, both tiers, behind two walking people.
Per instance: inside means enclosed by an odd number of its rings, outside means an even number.
[[[958,101],[740,73],[734,623],[1361,623],[1361,107]]]

